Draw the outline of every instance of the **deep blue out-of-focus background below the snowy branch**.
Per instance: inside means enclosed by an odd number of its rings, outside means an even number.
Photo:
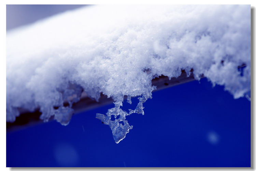
[[[207,79],[153,93],[116,144],[96,119],[113,105],[6,135],[7,167],[250,167],[250,101]],[[124,109],[134,109],[125,103]]]

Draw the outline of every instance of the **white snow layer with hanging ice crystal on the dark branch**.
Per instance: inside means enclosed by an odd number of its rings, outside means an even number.
[[[6,42],[8,122],[20,108],[40,108],[44,121],[67,125],[82,91],[96,100],[103,93],[115,107],[96,117],[118,143],[132,128],[125,117],[144,114],[151,80],[191,68],[234,98],[250,98],[250,5],[95,5],[8,31]],[[129,113],[120,109],[125,95],[140,100]]]

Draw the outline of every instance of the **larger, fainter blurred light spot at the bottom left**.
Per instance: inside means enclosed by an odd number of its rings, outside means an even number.
[[[66,142],[55,145],[54,157],[61,167],[75,167],[79,159],[75,148]]]

